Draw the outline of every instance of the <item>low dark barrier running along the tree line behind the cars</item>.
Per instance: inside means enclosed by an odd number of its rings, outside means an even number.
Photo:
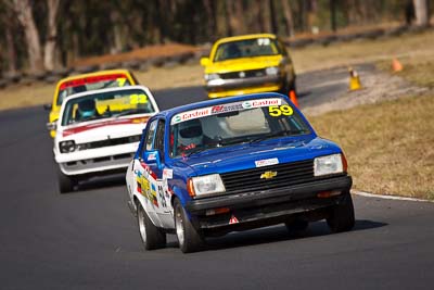
[[[308,46],[328,46],[334,42],[346,42],[356,39],[375,39],[379,37],[396,37],[404,33],[420,33],[430,29],[430,27],[414,27],[414,26],[398,26],[388,29],[371,29],[354,34],[332,34],[324,36],[312,36],[307,38],[290,39],[285,45],[292,49],[305,48]],[[59,68],[52,72],[40,72],[37,74],[24,74],[21,72],[13,74],[4,74],[0,77],[0,89],[5,88],[13,84],[27,84],[30,85],[36,81],[46,81],[49,84],[56,83],[59,79],[68,75],[85,74],[97,72],[100,70],[112,68],[128,68],[133,71],[145,72],[150,67],[166,67],[171,68],[177,65],[197,63],[200,58],[209,54],[210,46],[202,46],[196,52],[183,52],[170,56],[154,56],[148,59],[135,59],[124,62],[102,63],[93,65],[84,65],[68,68]]]

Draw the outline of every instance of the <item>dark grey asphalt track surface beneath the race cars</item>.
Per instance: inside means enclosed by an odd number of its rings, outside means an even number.
[[[346,89],[339,73],[317,74],[299,78],[302,106]],[[205,99],[201,88],[155,94],[162,109]],[[166,249],[144,252],[123,176],[58,192],[46,121],[41,108],[0,113],[0,289],[433,289],[427,202],[355,196],[349,232],[318,222],[292,237],[275,226],[214,238],[192,254],[169,235]]]

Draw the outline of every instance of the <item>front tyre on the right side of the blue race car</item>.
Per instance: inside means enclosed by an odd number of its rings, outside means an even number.
[[[352,194],[347,192],[341,202],[331,209],[327,224],[333,232],[342,232],[350,230],[355,222]]]

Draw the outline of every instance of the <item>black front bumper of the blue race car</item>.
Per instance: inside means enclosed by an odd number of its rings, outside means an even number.
[[[352,185],[350,176],[340,176],[279,189],[197,199],[188,202],[186,209],[192,215],[193,225],[202,230],[243,230],[284,223],[291,216],[330,207],[349,194]],[[335,194],[318,197],[324,192]],[[207,215],[209,210],[224,207],[229,213]],[[230,223],[232,217],[237,223]]]

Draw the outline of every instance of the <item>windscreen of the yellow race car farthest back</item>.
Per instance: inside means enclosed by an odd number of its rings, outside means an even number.
[[[264,55],[277,55],[279,50],[277,40],[271,38],[255,38],[231,42],[224,42],[218,46],[214,62],[221,62],[238,58],[254,58]]]

